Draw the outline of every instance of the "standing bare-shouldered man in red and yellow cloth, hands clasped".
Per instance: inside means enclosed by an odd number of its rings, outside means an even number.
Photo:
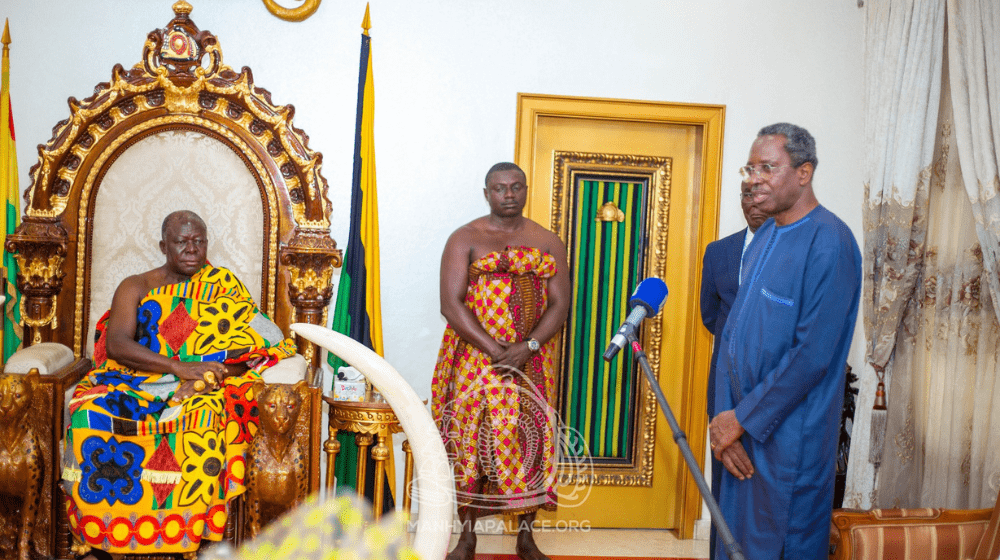
[[[455,470],[462,533],[449,560],[475,556],[477,517],[519,514],[517,555],[547,558],[531,524],[556,506],[553,337],[570,303],[566,247],[521,215],[524,172],[486,174],[490,213],[458,228],[441,257],[448,320],[432,411]]]

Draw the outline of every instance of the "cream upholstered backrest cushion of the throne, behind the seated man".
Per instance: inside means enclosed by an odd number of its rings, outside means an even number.
[[[260,189],[226,144],[186,130],[136,142],[111,164],[94,202],[90,307],[84,349],[93,355],[97,320],[121,281],[164,263],[160,226],[175,210],[192,210],[208,226],[208,259],[261,297],[264,214]],[[257,300],[258,304],[261,301]]]

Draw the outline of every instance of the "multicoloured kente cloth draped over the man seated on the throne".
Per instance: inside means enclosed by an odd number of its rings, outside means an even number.
[[[185,362],[244,362],[215,391],[172,406],[171,374],[107,358],[107,314],[97,367],[77,386],[63,455],[70,528],[114,553],[184,552],[220,540],[227,502],[244,491],[243,452],[257,431],[253,381],[295,344],[230,271],[206,265],[191,280],[147,293],[136,341]]]

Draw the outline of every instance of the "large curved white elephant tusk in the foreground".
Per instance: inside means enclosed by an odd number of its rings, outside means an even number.
[[[326,348],[358,369],[385,397],[406,433],[419,481],[419,517],[414,551],[426,560],[441,560],[451,538],[455,481],[434,419],[420,397],[385,358],[365,345],[319,325],[296,323],[293,332]]]

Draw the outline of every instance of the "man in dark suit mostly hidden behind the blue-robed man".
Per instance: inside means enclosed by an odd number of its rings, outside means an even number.
[[[767,215],[753,204],[753,193],[749,183],[740,185],[740,205],[747,227],[713,241],[705,248],[705,259],[701,271],[701,320],[705,328],[719,339],[726,326],[729,309],[740,289],[743,253],[746,251],[753,233],[766,220]],[[712,345],[712,364],[708,370],[708,417],[715,417],[715,364],[719,361],[719,345]],[[712,496],[719,501],[722,486],[722,463],[712,458]],[[709,540],[710,558],[715,558],[715,524]]]

